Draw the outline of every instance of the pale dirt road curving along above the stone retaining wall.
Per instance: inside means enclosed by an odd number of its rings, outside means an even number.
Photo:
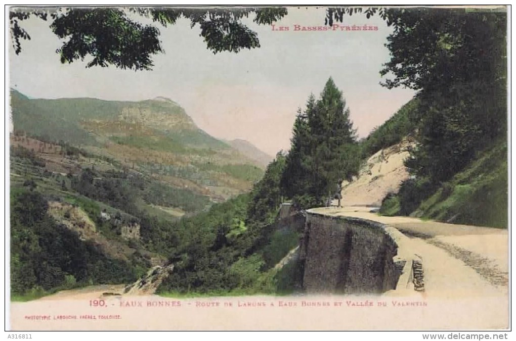
[[[350,216],[390,225],[411,238],[421,255],[427,295],[506,296],[507,230],[439,223],[412,217],[386,217],[367,207],[321,208],[318,213]]]

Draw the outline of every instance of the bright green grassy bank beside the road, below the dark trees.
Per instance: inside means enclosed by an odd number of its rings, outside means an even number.
[[[392,123],[396,115],[376,131],[385,131],[385,125]],[[370,147],[369,141],[365,140],[364,150]],[[447,181],[412,176],[402,182],[398,193],[384,198],[380,213],[507,228],[507,176],[507,140],[502,136],[476,151],[473,160]]]

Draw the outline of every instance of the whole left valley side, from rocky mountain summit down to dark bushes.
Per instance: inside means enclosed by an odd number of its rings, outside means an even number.
[[[13,299],[106,283],[98,271],[107,269],[93,267],[112,262],[108,283],[133,282],[167,263],[179,243],[178,219],[249,191],[263,175],[265,153],[240,141],[252,149],[248,156],[211,137],[169,99],[46,100],[12,91],[11,108]],[[41,246],[47,233],[65,233],[81,247],[42,251],[52,244]],[[25,234],[39,242],[25,247]]]

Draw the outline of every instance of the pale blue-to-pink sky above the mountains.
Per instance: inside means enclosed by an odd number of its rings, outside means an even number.
[[[252,19],[252,18],[251,18]],[[22,22],[31,40],[22,52],[9,50],[10,87],[33,98],[93,97],[144,100],[163,96],[179,103],[203,130],[219,139],[244,139],[275,155],[288,150],[297,109],[311,93],[316,97],[329,77],[342,90],[359,137],[366,137],[414,91],[380,86],[379,72],[389,61],[384,46],[392,28],[377,16],[346,16],[339,25],[371,25],[367,31],[302,31],[299,26],[324,26],[325,8],[289,7],[275,25],[256,25],[260,48],[214,55],[200,37],[199,26],[181,19],[159,26],[164,54],[153,57],[152,71],[92,67],[76,61],[61,64],[60,41],[50,22]],[[157,25],[157,24],[156,24]]]

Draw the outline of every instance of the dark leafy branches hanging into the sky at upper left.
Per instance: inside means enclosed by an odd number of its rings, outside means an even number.
[[[57,49],[61,63],[84,61],[86,67],[114,65],[119,69],[151,70],[152,56],[163,53],[159,30],[131,18],[137,14],[164,27],[179,18],[190,20],[193,28],[199,25],[200,36],[214,54],[228,51],[238,53],[243,48],[260,47],[256,32],[241,23],[254,14],[256,24],[271,24],[281,19],[285,8],[52,8],[27,11],[14,8],[9,12],[10,34],[15,53],[22,50],[22,39],[30,39],[20,25],[31,15],[53,20],[50,28],[65,42]]]

